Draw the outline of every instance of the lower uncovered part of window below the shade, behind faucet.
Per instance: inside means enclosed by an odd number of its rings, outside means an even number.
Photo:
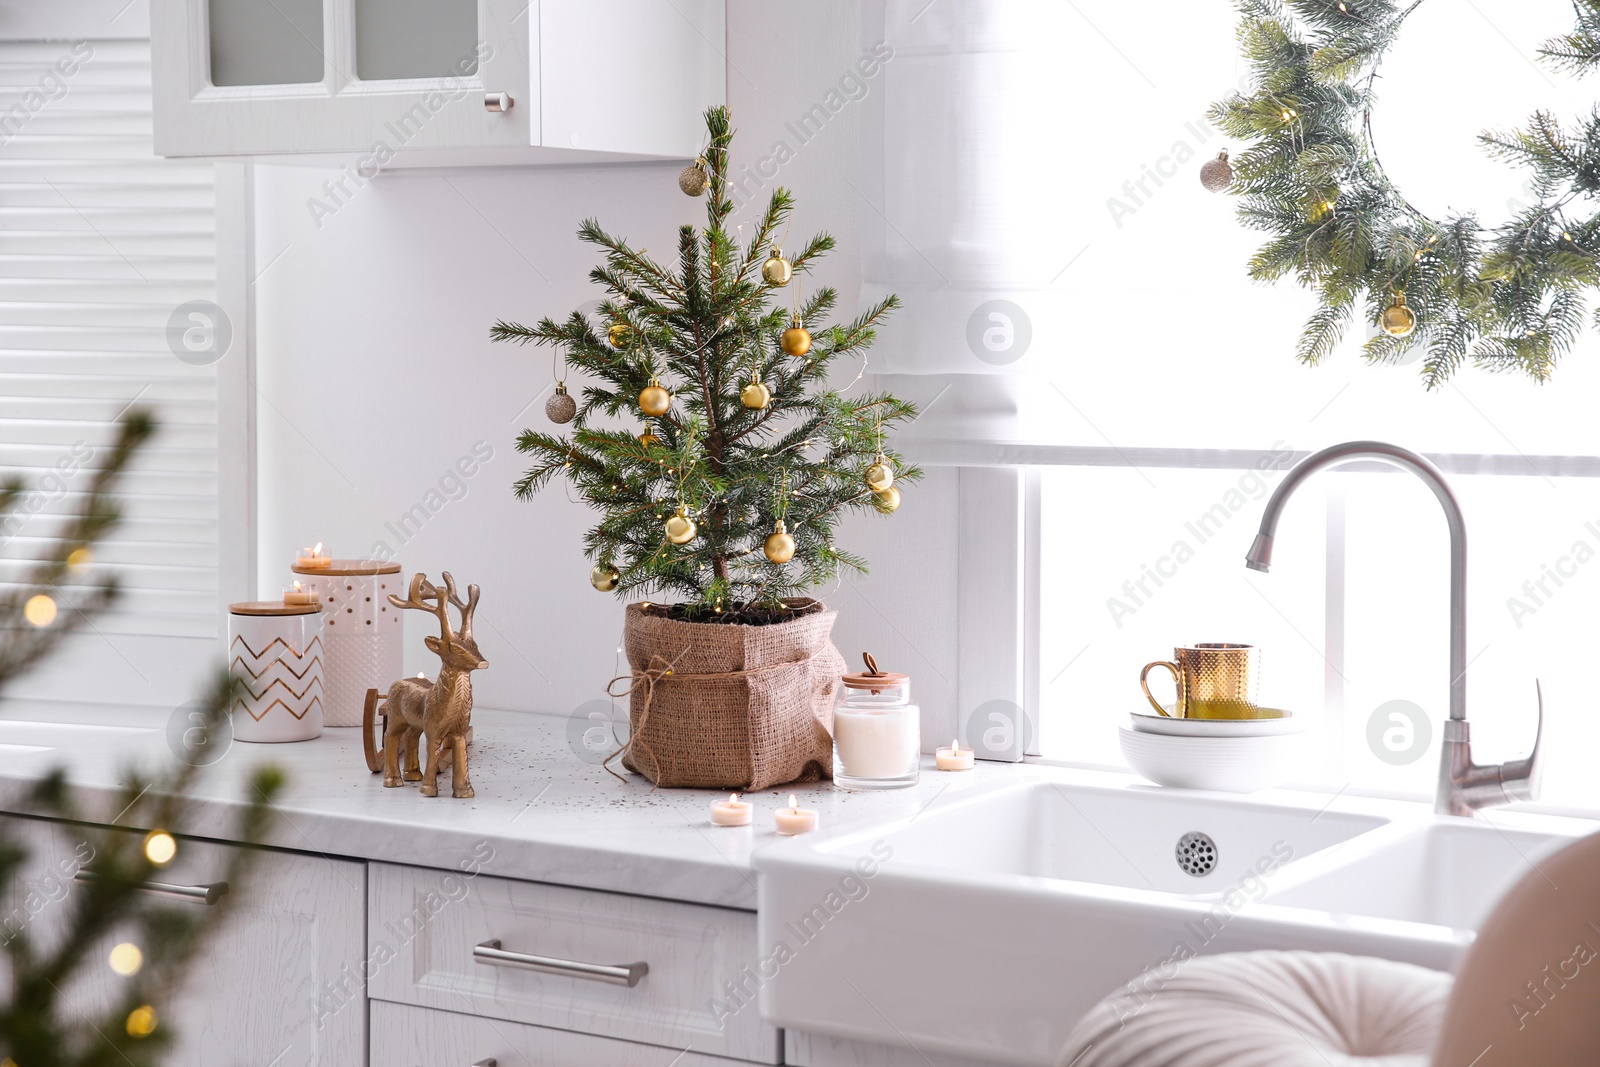
[[[1270,574],[1243,566],[1275,453],[1246,470],[1048,467],[1042,472],[1042,750],[1120,765],[1115,728],[1144,707],[1138,672],[1171,648],[1240,640],[1264,649],[1261,699],[1310,720],[1299,781],[1430,795],[1448,709],[1448,541],[1432,493],[1387,472],[1318,475],[1290,502]],[[1461,466],[1461,458],[1440,458]],[[1482,761],[1533,741],[1544,686],[1544,801],[1594,808],[1587,713],[1595,638],[1590,566],[1600,509],[1590,477],[1446,474],[1467,515],[1467,709]],[[1149,478],[1149,482],[1146,482]],[[1109,504],[1106,523],[1085,504]],[[1170,693],[1162,673],[1158,694]],[[1427,713],[1430,739],[1373,742],[1390,701]],[[1416,744],[1413,749],[1411,745]],[[1406,758],[1410,757],[1410,758]]]

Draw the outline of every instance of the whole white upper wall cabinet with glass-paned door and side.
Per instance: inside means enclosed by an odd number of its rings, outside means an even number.
[[[162,155],[693,157],[723,0],[152,0]]]

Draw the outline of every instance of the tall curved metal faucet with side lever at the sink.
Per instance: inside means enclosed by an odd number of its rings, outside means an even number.
[[[1306,478],[1318,470],[1362,459],[1394,464],[1427,483],[1445,509],[1445,522],[1450,526],[1450,718],[1445,721],[1443,749],[1438,753],[1438,792],[1434,811],[1470,816],[1478,808],[1538,800],[1539,779],[1544,774],[1541,755],[1544,686],[1538,681],[1534,688],[1539,694],[1539,725],[1528,758],[1488,766],[1472,761],[1472,734],[1467,726],[1467,526],[1456,494],[1450,491],[1438,467],[1408,448],[1382,442],[1346,442],[1312,453],[1274,490],[1267,510],[1261,515],[1261,533],[1245,557],[1245,566],[1253,571],[1267,571],[1272,566],[1272,539],[1278,530],[1278,514]]]

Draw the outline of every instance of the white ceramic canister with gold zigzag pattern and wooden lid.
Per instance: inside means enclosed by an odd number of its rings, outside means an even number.
[[[280,600],[229,605],[227,669],[240,681],[235,741],[322,734],[322,609]]]

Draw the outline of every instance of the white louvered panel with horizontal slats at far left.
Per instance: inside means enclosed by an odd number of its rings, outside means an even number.
[[[147,42],[0,42],[0,472],[34,490],[0,530],[0,582],[82,502],[117,418],[149,408],[160,432],[94,557],[123,587],[96,637],[139,677],[198,646],[138,638],[218,632],[216,368],[168,342],[174,309],[214,299],[214,229],[213,166],[152,152]]]

